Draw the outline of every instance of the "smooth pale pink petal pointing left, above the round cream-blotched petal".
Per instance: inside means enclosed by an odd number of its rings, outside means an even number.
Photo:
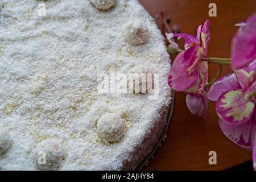
[[[218,98],[228,90],[241,89],[241,86],[234,73],[218,78],[207,94],[210,101],[217,101]]]

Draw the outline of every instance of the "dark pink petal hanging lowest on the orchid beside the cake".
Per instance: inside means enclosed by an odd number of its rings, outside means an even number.
[[[193,115],[197,115],[199,117],[206,116],[207,108],[208,108],[208,98],[207,91],[204,90],[202,95],[190,96],[186,97],[186,104]]]

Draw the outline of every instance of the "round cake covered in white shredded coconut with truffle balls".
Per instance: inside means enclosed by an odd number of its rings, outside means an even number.
[[[171,103],[139,2],[3,0],[0,32],[0,169],[137,169]]]

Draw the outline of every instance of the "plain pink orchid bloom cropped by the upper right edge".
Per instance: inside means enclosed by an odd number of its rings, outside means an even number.
[[[232,68],[245,67],[256,58],[256,13],[242,23],[232,39]]]

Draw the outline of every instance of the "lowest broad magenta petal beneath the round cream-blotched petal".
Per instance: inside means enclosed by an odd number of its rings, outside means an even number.
[[[226,123],[222,119],[219,119],[218,123],[226,137],[242,148],[253,150],[255,143],[254,136],[256,134],[256,119],[250,119],[248,122],[240,125]]]

